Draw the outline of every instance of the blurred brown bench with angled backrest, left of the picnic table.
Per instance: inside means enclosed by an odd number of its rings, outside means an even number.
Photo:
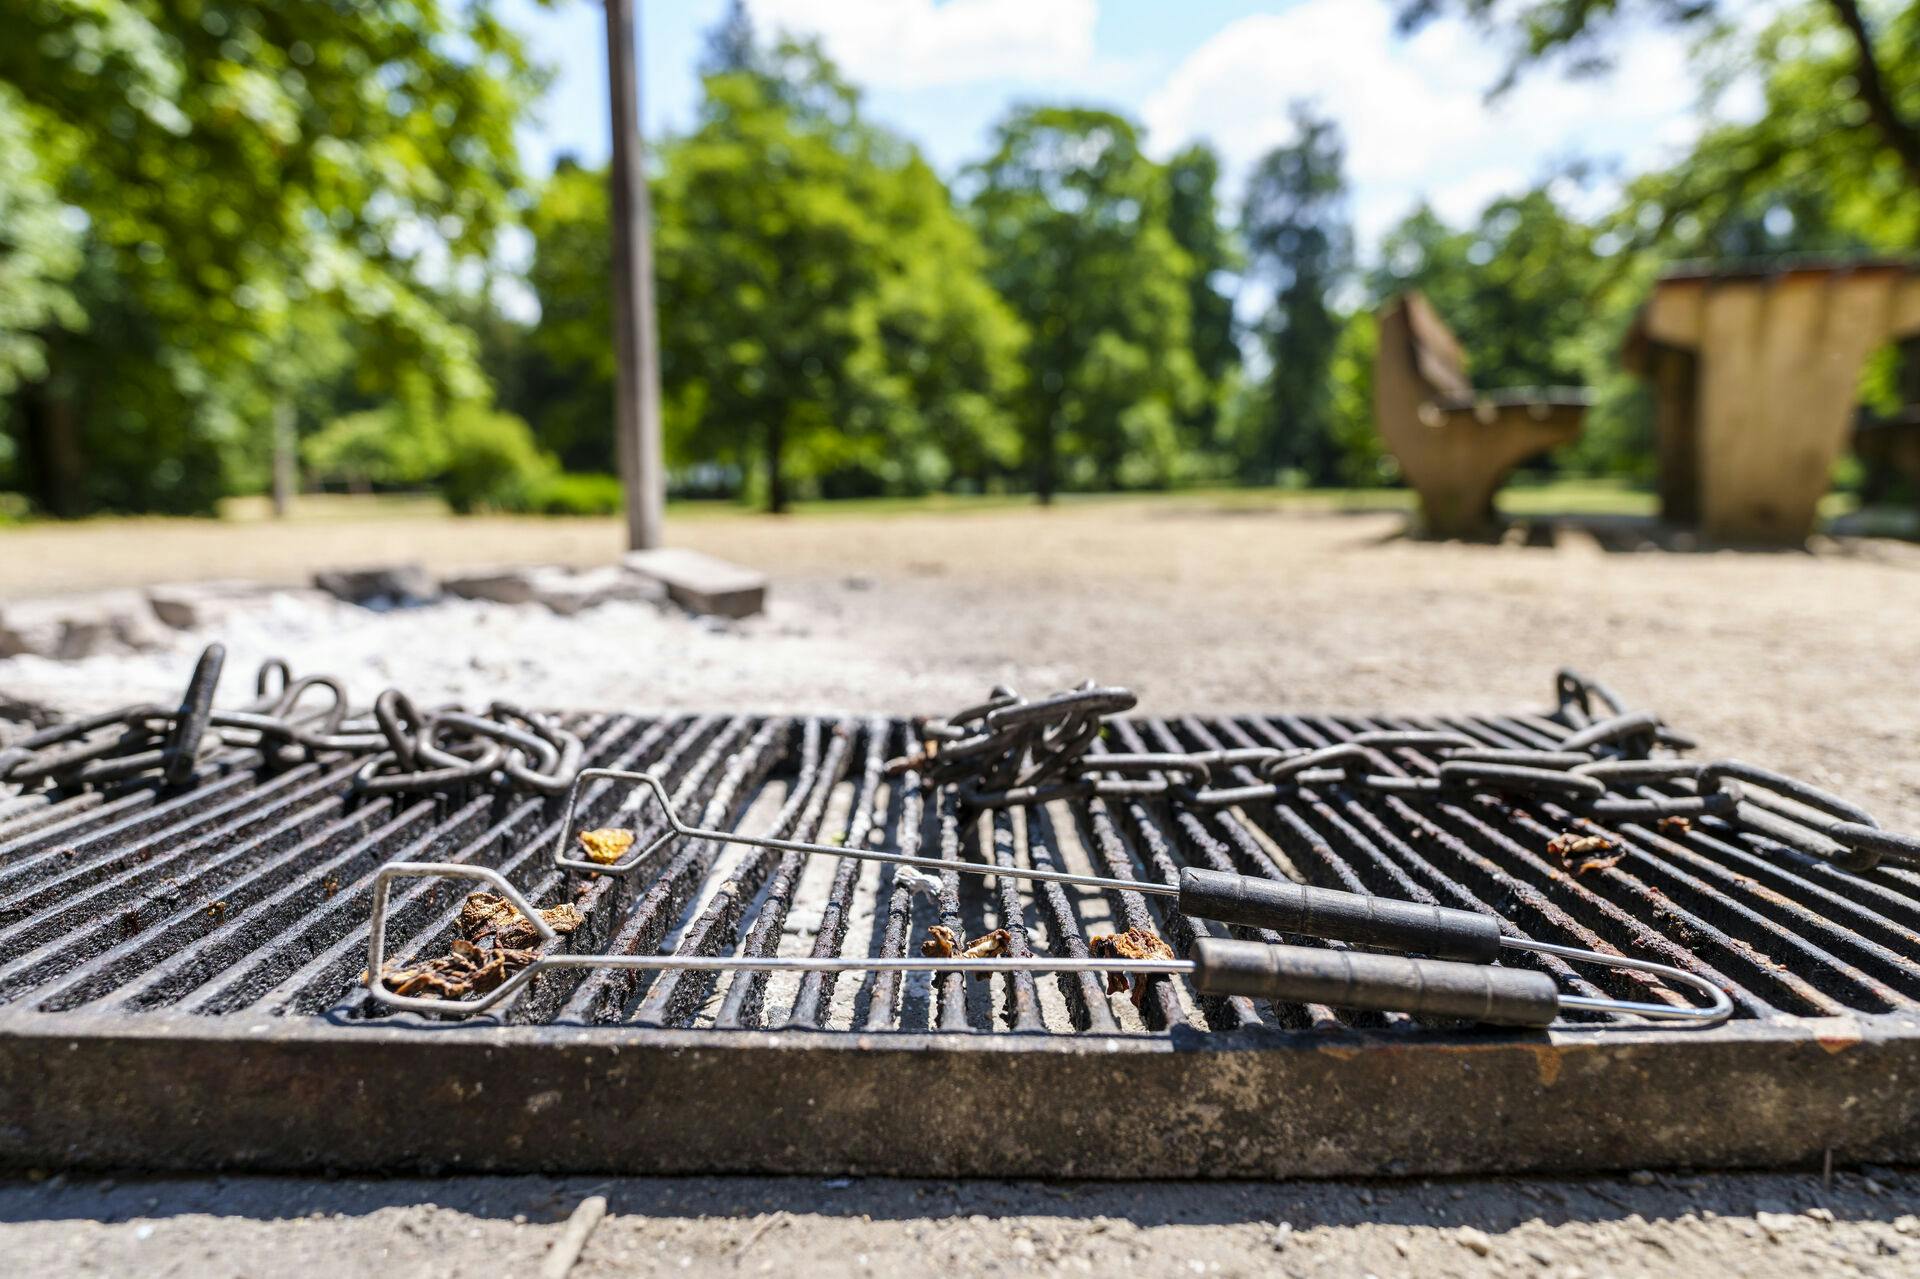
[[[1494,494],[1517,465],[1580,434],[1586,392],[1482,394],[1459,340],[1413,292],[1380,309],[1373,417],[1421,499],[1425,530],[1467,538],[1494,522]]]

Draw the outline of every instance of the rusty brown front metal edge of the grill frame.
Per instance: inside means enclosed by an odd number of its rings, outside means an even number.
[[[1332,1177],[1920,1158],[1920,1020],[1165,1037],[0,1016],[0,1168]]]

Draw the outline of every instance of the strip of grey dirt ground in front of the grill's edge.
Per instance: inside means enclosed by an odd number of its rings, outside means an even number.
[[[0,1187],[8,1273],[470,1279],[612,1275],[1912,1275],[1920,1177],[1037,1183],[449,1177]]]

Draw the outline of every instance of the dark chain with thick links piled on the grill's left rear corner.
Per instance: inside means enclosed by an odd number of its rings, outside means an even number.
[[[359,755],[365,762],[353,785],[369,795],[478,784],[559,795],[580,772],[580,737],[547,716],[505,701],[484,716],[457,707],[422,712],[399,689],[386,689],[371,716],[349,718],[340,680],[296,680],[276,657],[261,663],[252,703],[215,711],[225,663],[227,649],[207,645],[179,707],[121,707],[13,741],[0,749],[0,785],[71,791],[152,774],[184,785],[221,749],[257,751],[275,768]]]

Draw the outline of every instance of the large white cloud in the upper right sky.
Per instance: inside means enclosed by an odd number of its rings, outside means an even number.
[[[1208,138],[1231,175],[1244,173],[1292,138],[1292,104],[1309,100],[1346,136],[1354,219],[1371,244],[1423,198],[1457,221],[1557,159],[1638,167],[1692,140],[1684,38],[1628,29],[1615,48],[1605,77],[1540,67],[1488,102],[1507,52],[1476,27],[1442,19],[1404,38],[1382,0],[1304,0],[1233,21],[1196,48],[1148,96],[1148,144],[1171,154]]]

